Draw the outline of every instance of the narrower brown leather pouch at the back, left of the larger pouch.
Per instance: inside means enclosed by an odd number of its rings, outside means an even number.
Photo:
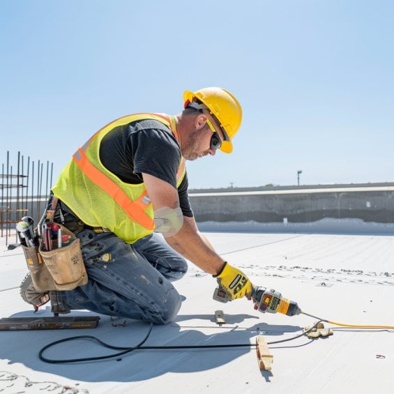
[[[50,275],[50,271],[48,271],[47,266],[45,266],[43,259],[38,253],[38,246],[27,248],[22,245],[22,249],[34,288],[37,291],[56,290],[52,275]]]

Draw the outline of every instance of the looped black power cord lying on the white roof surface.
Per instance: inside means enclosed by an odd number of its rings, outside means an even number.
[[[321,321],[323,321],[323,320],[317,321],[317,323],[315,323],[315,325],[312,326],[308,331],[305,331],[299,335],[296,335],[291,338],[287,338],[285,340],[277,340],[277,341],[267,342],[267,344],[288,342],[290,340],[295,340],[297,338],[300,338],[304,335],[307,335],[310,331],[315,329],[317,327],[317,324],[321,323]],[[183,345],[183,346],[142,346],[146,342],[146,340],[149,338],[149,335],[151,335],[152,328],[153,328],[153,323],[151,323],[151,325],[149,327],[149,331],[145,335],[145,338],[141,342],[139,342],[139,344],[136,344],[135,346],[132,346],[132,347],[118,347],[118,346],[114,346],[112,344],[107,344],[107,343],[103,342],[102,340],[99,340],[98,338],[93,337],[92,335],[79,335],[79,336],[75,336],[75,337],[64,338],[62,340],[57,340],[57,341],[51,342],[50,344],[47,344],[45,347],[43,347],[43,349],[40,350],[38,357],[40,358],[41,361],[44,361],[45,363],[61,364],[61,363],[79,363],[81,361],[104,360],[106,358],[123,356],[123,354],[130,353],[130,351],[134,351],[134,350],[223,349],[223,348],[228,348],[228,347],[256,347],[256,344],[251,344],[251,343],[246,343],[246,344],[198,344],[198,345],[196,344],[196,345]],[[51,359],[51,358],[46,358],[45,356],[43,356],[43,353],[45,350],[50,349],[50,347],[53,347],[56,344],[63,343],[63,342],[69,342],[72,340],[81,340],[81,339],[94,340],[94,341],[98,342],[99,344],[103,345],[103,347],[107,347],[108,349],[122,350],[122,351],[119,351],[118,353],[114,353],[114,354],[108,354],[107,356],[86,357],[86,358],[68,358],[68,359],[57,359],[57,360]]]

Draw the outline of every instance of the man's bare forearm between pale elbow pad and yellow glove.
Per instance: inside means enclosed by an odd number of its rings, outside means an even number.
[[[165,238],[176,252],[211,275],[218,274],[225,261],[213,250],[205,236],[184,221],[181,230],[174,236]]]

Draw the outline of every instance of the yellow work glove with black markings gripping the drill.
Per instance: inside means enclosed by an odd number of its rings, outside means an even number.
[[[218,280],[219,286],[225,289],[232,300],[250,296],[252,293],[252,283],[249,278],[227,262],[225,262],[222,271],[218,275],[213,275],[213,278]]]

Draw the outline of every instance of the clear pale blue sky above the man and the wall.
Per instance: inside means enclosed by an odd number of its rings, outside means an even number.
[[[188,162],[190,188],[394,181],[394,1],[0,2],[0,163],[54,162],[133,112],[222,86],[234,153]]]

